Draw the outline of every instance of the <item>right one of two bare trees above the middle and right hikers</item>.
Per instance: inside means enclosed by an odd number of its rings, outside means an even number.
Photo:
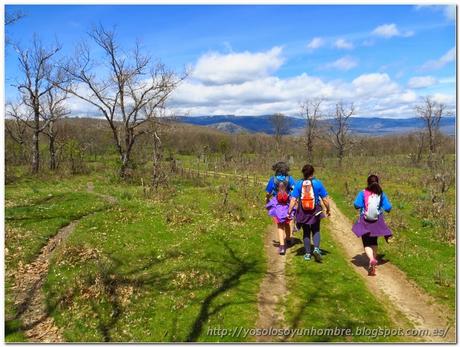
[[[329,133],[332,144],[337,151],[339,165],[342,166],[342,160],[346,151],[352,145],[349,134],[350,117],[355,113],[355,107],[351,103],[348,107],[339,102],[335,105],[335,113],[330,120]]]

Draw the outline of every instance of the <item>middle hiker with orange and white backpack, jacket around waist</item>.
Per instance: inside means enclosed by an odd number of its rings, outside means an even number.
[[[313,176],[315,169],[307,164],[302,168],[303,179],[297,181],[292,190],[291,203],[288,214],[296,208],[295,220],[297,227],[303,229],[305,247],[305,260],[310,260],[311,255],[317,262],[321,262],[322,254],[320,244],[320,221],[326,217],[321,206],[321,201],[326,208],[326,214],[331,215],[329,196],[323,183]],[[313,236],[313,237],[312,237]],[[313,252],[311,253],[311,238],[313,238]]]

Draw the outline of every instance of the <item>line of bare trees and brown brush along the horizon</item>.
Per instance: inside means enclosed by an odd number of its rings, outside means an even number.
[[[20,18],[22,14],[10,15],[9,23]],[[161,170],[165,150],[169,151],[169,157],[171,153],[193,150],[194,153],[219,153],[224,161],[231,161],[238,153],[266,155],[272,149],[275,156],[286,157],[286,153],[296,156],[301,142],[301,156],[307,161],[315,162],[315,156],[324,154],[335,155],[341,165],[345,156],[375,141],[350,132],[350,117],[356,115],[353,103],[340,101],[326,110],[321,99],[305,99],[299,104],[299,115],[305,120],[305,132],[301,137],[288,135],[290,124],[281,113],[271,117],[273,137],[261,134],[228,136],[190,127],[178,128],[172,125],[171,118],[165,120],[167,100],[187,78],[188,72],[177,73],[154,61],[143,53],[139,43],[126,50],[116,31],[102,25],[92,28],[70,57],[61,54],[59,43],[46,46],[36,35],[26,48],[8,44],[17,54],[20,77],[13,84],[18,98],[6,105],[5,130],[9,140],[19,148],[19,160],[30,161],[33,174],[38,173],[42,165],[40,141],[43,140],[48,143],[49,169],[56,170],[59,153],[67,153],[73,161],[83,152],[96,151],[90,147],[104,147],[110,139],[110,146],[118,156],[121,178],[126,178],[135,165],[134,146],[149,148],[154,186],[165,179]],[[86,104],[105,123],[100,120],[94,123],[98,130],[86,143],[70,141],[81,137],[74,129],[78,128],[77,123],[68,119],[74,116],[70,106],[75,100]],[[427,152],[428,162],[432,163],[445,140],[440,133],[440,120],[449,112],[444,104],[430,97],[415,106],[414,112],[423,119],[425,128],[399,139],[411,143],[409,154],[415,162],[420,162],[423,153]],[[320,122],[324,119],[327,122]],[[93,130],[78,131],[84,134],[93,133]],[[59,136],[66,139],[66,147],[58,140]],[[391,151],[390,147],[391,144],[387,144],[385,151]],[[408,151],[407,148],[402,150]],[[141,156],[145,159],[145,150]],[[76,166],[73,171],[77,171]]]

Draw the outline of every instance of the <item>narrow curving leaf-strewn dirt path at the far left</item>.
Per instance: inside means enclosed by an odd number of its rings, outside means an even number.
[[[93,193],[93,190],[94,186],[89,182],[87,191]],[[111,204],[116,202],[112,196],[97,195]],[[35,261],[19,268],[15,274],[15,304],[18,307],[16,318],[22,321],[24,335],[31,342],[64,342],[62,331],[54,324],[46,308],[43,283],[48,274],[52,254],[65,242],[79,221],[80,219],[61,228],[41,249]]]

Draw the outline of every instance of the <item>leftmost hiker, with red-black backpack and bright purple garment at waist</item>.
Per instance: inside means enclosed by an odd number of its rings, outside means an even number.
[[[265,189],[266,208],[268,215],[278,227],[280,255],[286,254],[286,245],[291,245],[291,215],[288,213],[291,190],[295,180],[289,176],[289,166],[285,162],[277,162],[272,166],[275,174],[270,177]]]

